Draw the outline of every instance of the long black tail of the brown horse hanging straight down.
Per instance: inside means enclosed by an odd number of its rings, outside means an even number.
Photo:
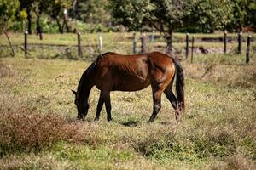
[[[174,59],[176,68],[176,95],[177,105],[183,111],[185,109],[185,97],[184,97],[184,73],[183,68],[177,59]]]

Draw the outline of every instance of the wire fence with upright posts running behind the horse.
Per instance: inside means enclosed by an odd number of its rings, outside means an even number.
[[[166,53],[166,42],[160,34],[115,33],[95,35],[44,35],[40,41],[36,36],[25,34],[13,45],[15,54],[39,59],[94,59],[98,54],[113,51],[119,54],[140,54],[149,51]],[[3,37],[2,37],[3,38]],[[23,40],[22,40],[23,39]],[[172,39],[172,54],[187,59],[193,54],[250,54],[256,51],[255,37],[241,33],[229,36],[227,32],[216,37],[198,37],[196,34],[179,34]],[[192,48],[192,40],[194,46]],[[0,57],[9,56],[9,44],[0,42]],[[191,59],[192,61],[192,59]]]

